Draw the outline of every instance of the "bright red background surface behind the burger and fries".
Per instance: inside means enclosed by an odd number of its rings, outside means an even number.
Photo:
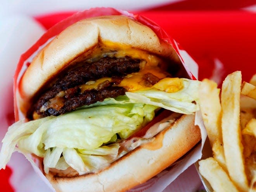
[[[220,1],[215,1],[219,4],[215,10],[214,7],[208,9],[208,4],[214,4],[213,1],[206,3],[202,0],[192,0],[187,4],[174,3],[137,13],[155,21],[187,50],[199,64],[199,80],[211,76],[216,58],[224,64],[224,76],[241,70],[243,79],[248,81],[256,73],[256,14],[235,9],[252,5],[253,1],[232,1],[232,10],[226,10],[226,4],[220,6]],[[200,2],[199,7],[190,9],[193,3]],[[183,10],[180,10],[180,7],[183,7]],[[198,11],[200,9],[204,11]],[[35,18],[48,29],[72,13]],[[14,191],[8,182],[10,174],[8,167],[6,170],[0,170],[0,191]]]

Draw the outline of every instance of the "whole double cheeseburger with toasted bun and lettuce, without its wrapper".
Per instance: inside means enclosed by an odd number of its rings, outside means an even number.
[[[42,159],[57,192],[131,189],[201,139],[198,86],[149,27],[126,16],[76,22],[22,75],[24,119],[3,139],[0,168],[17,149]]]

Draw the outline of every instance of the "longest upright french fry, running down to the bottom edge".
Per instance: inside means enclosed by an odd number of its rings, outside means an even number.
[[[231,180],[240,191],[248,191],[240,130],[240,87],[242,74],[235,71],[223,81],[221,90],[222,137],[225,160]]]

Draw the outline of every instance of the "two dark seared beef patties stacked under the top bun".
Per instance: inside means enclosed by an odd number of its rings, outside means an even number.
[[[103,57],[95,62],[82,61],[76,65],[80,67],[68,71],[55,82],[52,88],[43,93],[28,113],[28,117],[33,115],[35,119],[50,115],[57,116],[83,105],[103,101],[108,97],[125,95],[125,88],[116,85],[127,74],[140,71],[141,62],[141,59],[132,59],[128,56]],[[104,77],[111,78],[111,81],[106,80],[95,89],[81,91],[80,85]]]

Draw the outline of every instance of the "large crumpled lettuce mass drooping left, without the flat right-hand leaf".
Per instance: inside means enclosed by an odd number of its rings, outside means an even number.
[[[109,98],[57,117],[14,123],[3,139],[0,167],[5,167],[16,145],[22,152],[43,157],[46,173],[67,165],[80,174],[106,166],[118,155],[119,145],[104,144],[115,141],[116,134],[129,137],[151,121],[158,108],[123,98]]]

